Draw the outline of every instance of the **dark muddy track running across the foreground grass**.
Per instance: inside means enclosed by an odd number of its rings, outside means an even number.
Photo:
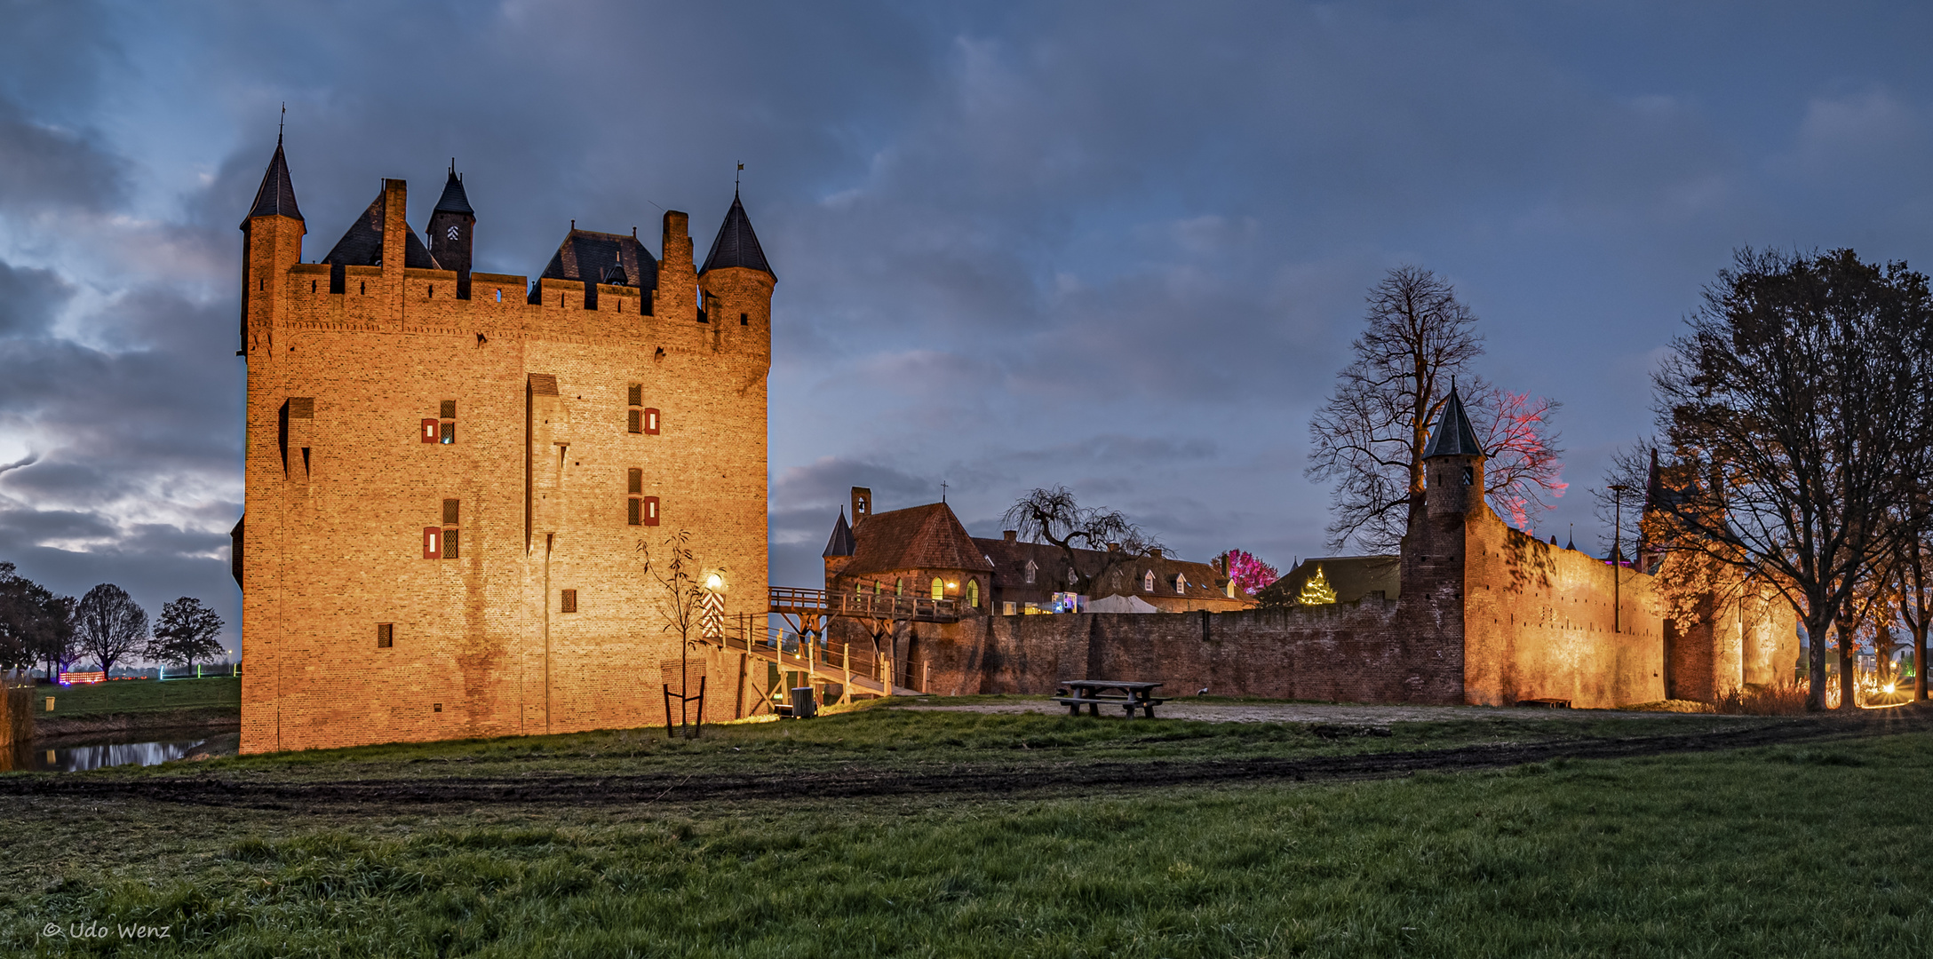
[[[1345,727],[1332,727],[1338,735]],[[1440,750],[1372,752],[1311,758],[1243,760],[1146,760],[1059,764],[972,764],[947,768],[847,766],[837,770],[769,768],[754,773],[702,771],[659,775],[578,777],[534,773],[526,777],[421,777],[356,781],[267,781],[257,775],[141,775],[91,773],[0,777],[0,795],[68,799],[143,799],[207,806],[311,810],[319,806],[516,804],[516,806],[619,806],[690,804],[698,800],[796,800],[856,797],[1021,797],[1084,793],[1106,787],[1220,785],[1262,781],[1347,781],[1398,777],[1417,771],[1463,771],[1521,766],[1556,758],[1622,758],[1670,752],[1711,752],[1821,739],[1933,731],[1925,715],[1803,717],[1628,739],[1562,739],[1500,742]]]

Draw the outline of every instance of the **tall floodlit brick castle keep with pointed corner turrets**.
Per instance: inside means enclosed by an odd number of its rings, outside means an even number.
[[[572,222],[528,282],[472,271],[454,166],[427,244],[406,201],[383,180],[305,261],[276,141],[242,222],[242,750],[663,721],[648,551],[690,532],[723,613],[765,613],[777,276],[744,205],[704,265],[667,211],[661,259]]]

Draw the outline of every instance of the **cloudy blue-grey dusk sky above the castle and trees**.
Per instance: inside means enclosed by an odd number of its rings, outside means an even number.
[[[1034,485],[1189,559],[1320,555],[1309,414],[1390,267],[1564,404],[1558,509],[1651,431],[1734,247],[1933,261],[1925,4],[0,0],[0,559],[234,623],[240,232],[288,104],[307,255],[450,157],[477,269],[744,201],[779,275],[771,572],[849,485]],[[232,634],[230,634],[232,638]]]

